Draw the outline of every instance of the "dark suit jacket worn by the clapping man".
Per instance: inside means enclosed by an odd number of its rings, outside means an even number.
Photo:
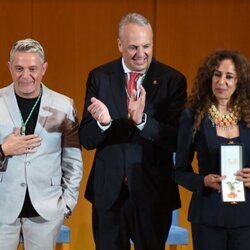
[[[181,73],[153,60],[143,86],[147,122],[140,131],[128,119],[121,59],[89,74],[80,139],[86,149],[96,149],[85,194],[96,206],[110,208],[127,176],[130,195],[138,206],[180,207],[178,188],[171,180],[172,153],[186,99],[186,80]],[[113,119],[105,132],[87,111],[93,96],[105,103]]]

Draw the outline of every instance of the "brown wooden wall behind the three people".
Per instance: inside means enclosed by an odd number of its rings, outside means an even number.
[[[118,22],[128,12],[148,17],[155,57],[182,71],[189,90],[198,65],[212,50],[236,49],[250,56],[248,0],[0,0],[0,87],[11,82],[7,61],[12,44],[37,39],[49,63],[44,82],[73,97],[81,118],[88,71],[119,56]],[[83,199],[93,152],[83,151],[83,157],[79,203],[66,222],[72,228],[72,250],[94,249],[91,206]],[[181,194],[180,223],[189,228],[190,193],[181,189]]]

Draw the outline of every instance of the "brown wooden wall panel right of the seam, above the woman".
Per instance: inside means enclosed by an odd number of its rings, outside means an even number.
[[[158,0],[156,9],[156,55],[180,69],[189,85],[214,49],[250,56],[248,1]]]

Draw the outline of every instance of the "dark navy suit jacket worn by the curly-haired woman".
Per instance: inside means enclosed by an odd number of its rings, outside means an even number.
[[[244,166],[250,167],[250,129],[239,123],[240,143],[244,148]],[[204,176],[220,174],[221,138],[206,116],[195,139],[192,138],[193,111],[183,111],[178,134],[178,149],[174,176],[178,184],[193,192],[189,208],[189,220],[195,223],[238,227],[250,225],[250,190],[245,188],[246,202],[231,205],[223,203],[221,193],[204,187]],[[198,172],[192,169],[194,152],[197,152]]]

